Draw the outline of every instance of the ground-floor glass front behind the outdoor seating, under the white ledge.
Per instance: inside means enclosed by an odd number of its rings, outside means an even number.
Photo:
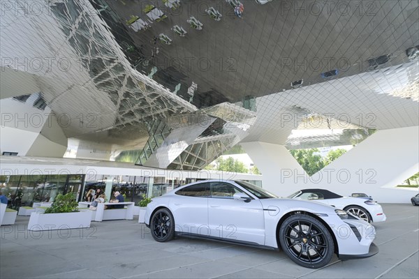
[[[0,176],[0,189],[12,209],[32,206],[34,202],[54,202],[57,195],[67,193],[73,193],[75,200],[84,202],[93,200],[94,194],[100,192],[110,201],[115,199],[115,191],[119,191],[126,202],[138,204],[144,197],[159,197],[199,180],[205,179],[107,174],[10,175]],[[262,181],[248,182],[262,186]]]

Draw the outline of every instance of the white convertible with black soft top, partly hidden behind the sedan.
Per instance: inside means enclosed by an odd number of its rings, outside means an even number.
[[[309,199],[313,202],[331,205],[358,216],[362,220],[371,222],[384,222],[387,217],[383,208],[377,202],[365,200],[360,197],[343,197],[325,189],[304,189],[288,196],[290,199]]]

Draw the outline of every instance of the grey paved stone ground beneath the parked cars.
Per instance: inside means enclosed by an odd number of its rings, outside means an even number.
[[[28,232],[29,217],[1,227],[0,278],[419,278],[419,206],[383,204],[380,252],[305,269],[284,252],[198,239],[158,243],[137,220],[90,229]]]

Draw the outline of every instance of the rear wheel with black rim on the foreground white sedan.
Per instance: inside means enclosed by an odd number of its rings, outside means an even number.
[[[168,209],[159,209],[154,212],[150,221],[150,231],[153,239],[159,242],[166,242],[175,236],[175,220]]]

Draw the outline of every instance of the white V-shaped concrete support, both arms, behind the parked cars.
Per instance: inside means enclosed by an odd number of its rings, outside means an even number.
[[[241,144],[263,175],[263,188],[286,197],[303,188],[339,195],[366,193],[378,202],[409,203],[418,189],[395,188],[419,172],[419,127],[378,130],[343,156],[308,176],[279,144]]]

